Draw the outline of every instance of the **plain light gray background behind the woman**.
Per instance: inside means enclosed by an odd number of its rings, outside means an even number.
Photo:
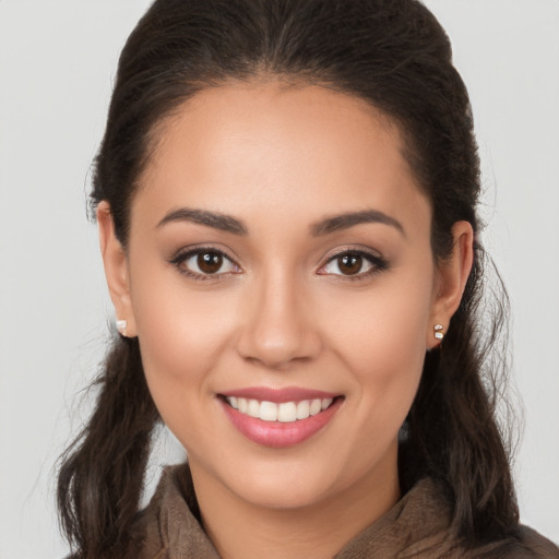
[[[557,542],[559,1],[426,3],[471,92],[484,240],[513,304],[522,519]],[[119,50],[147,4],[0,0],[0,559],[67,551],[52,467],[87,415],[76,393],[112,318],[84,190]],[[164,447],[155,466],[180,454]]]

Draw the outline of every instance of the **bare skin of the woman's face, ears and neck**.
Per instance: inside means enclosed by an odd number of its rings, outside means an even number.
[[[117,317],[139,337],[151,393],[187,449],[204,527],[224,558],[331,557],[400,498],[397,432],[473,253],[460,222],[453,254],[436,262],[430,204],[401,147],[397,129],[362,99],[318,85],[231,84],[199,93],[162,127],[126,250],[99,204]],[[181,207],[234,216],[247,234],[187,219],[158,226]],[[311,234],[326,216],[368,210],[402,230],[361,223]],[[185,274],[195,258],[169,261],[200,245],[230,262],[195,281]],[[385,267],[365,260],[348,275],[334,258],[348,250]],[[274,449],[237,431],[216,397],[247,386],[344,401],[313,437]]]

